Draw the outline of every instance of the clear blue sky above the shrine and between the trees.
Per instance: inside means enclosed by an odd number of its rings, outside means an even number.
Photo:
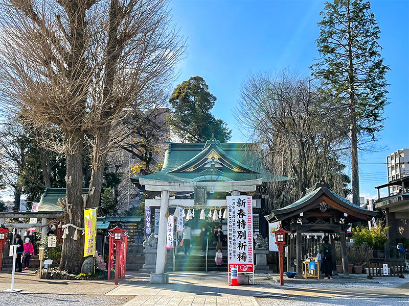
[[[406,0],[371,1],[381,30],[381,55],[391,68],[387,74],[391,104],[385,108],[385,128],[378,135],[377,145],[384,149],[359,156],[360,193],[367,198],[376,196],[375,186],[387,182],[385,157],[409,147],[408,4]],[[246,140],[233,115],[246,76],[285,68],[309,75],[308,67],[318,57],[316,23],[324,1],[171,0],[170,7],[188,43],[175,85],[194,75],[203,77],[217,97],[213,114],[233,130],[233,142]]]

